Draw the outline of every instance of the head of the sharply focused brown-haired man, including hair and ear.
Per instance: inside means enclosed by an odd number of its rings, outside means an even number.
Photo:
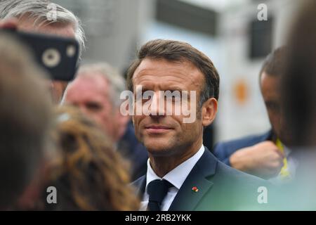
[[[149,41],[140,48],[137,59],[129,68],[127,83],[134,95],[138,91],[136,86],[154,92],[148,115],[133,115],[136,136],[150,156],[178,155],[183,160],[183,156],[187,158],[192,155],[192,150],[200,148],[203,127],[211,124],[216,116],[219,92],[218,72],[204,53],[180,41]],[[157,112],[156,103],[166,101],[159,96],[159,91],[188,91],[189,98],[181,98],[181,105],[192,103],[192,107],[188,107],[190,115],[184,115],[183,110],[180,115],[176,115],[175,110],[171,115],[167,115],[166,110]],[[147,101],[143,99],[141,107]],[[173,108],[179,106],[172,104]],[[195,120],[185,122],[184,119],[192,114],[195,114]]]

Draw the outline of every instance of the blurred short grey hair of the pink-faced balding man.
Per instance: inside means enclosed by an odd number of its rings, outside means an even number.
[[[82,65],[77,72],[77,76],[81,75],[102,75],[110,84],[110,97],[112,104],[116,107],[121,105],[121,92],[125,90],[126,84],[123,75],[116,68],[108,63],[93,63]]]

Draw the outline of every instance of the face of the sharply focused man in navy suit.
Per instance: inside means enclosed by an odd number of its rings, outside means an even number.
[[[189,62],[171,63],[167,60],[144,59],[133,74],[134,96],[137,85],[142,86],[142,91],[154,91],[154,100],[157,107],[150,107],[150,115],[134,115],[133,123],[137,138],[145,145],[152,155],[177,155],[178,151],[202,144],[202,120],[200,116],[192,123],[183,123],[183,115],[158,115],[158,91],[196,91],[193,107],[197,108],[197,99],[204,82],[204,75],[195,65]],[[181,99],[182,100],[182,99]],[[141,104],[145,104],[143,101]],[[174,103],[173,103],[174,106]],[[197,110],[198,112],[199,110]],[[153,114],[156,115],[153,115]],[[135,113],[134,113],[135,114]],[[198,113],[199,114],[199,113]]]

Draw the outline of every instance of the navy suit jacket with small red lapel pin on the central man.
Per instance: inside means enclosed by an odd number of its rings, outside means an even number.
[[[146,176],[134,181],[143,198]],[[204,154],[185,179],[169,211],[202,210],[263,210],[258,203],[258,187],[269,187],[267,181],[228,167],[205,148]],[[199,191],[192,191],[197,187]]]

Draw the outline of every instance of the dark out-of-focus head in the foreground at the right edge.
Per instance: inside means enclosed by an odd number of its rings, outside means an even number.
[[[302,1],[291,27],[282,99],[292,146],[316,146],[316,1]]]

